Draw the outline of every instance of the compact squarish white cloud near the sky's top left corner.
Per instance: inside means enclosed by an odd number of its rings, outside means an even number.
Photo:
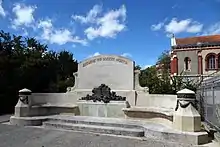
[[[31,26],[34,23],[33,13],[36,8],[36,6],[26,6],[25,4],[16,3],[12,9],[12,12],[15,13],[12,27],[16,29],[22,25]]]

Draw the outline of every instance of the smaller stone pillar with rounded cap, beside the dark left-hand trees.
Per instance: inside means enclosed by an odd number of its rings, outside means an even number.
[[[16,117],[29,116],[29,110],[32,106],[31,93],[31,90],[26,88],[19,90],[19,99],[15,106]]]

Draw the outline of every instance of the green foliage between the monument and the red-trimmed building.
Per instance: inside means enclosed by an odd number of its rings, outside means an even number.
[[[149,88],[151,94],[176,94],[177,91],[188,88],[196,91],[199,83],[180,76],[170,77],[170,55],[164,51],[159,56],[157,64],[160,65],[161,75],[158,76],[156,66],[141,71],[140,84]]]

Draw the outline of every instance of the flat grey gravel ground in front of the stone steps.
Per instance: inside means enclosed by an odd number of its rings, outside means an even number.
[[[178,143],[0,124],[0,147],[189,147]]]

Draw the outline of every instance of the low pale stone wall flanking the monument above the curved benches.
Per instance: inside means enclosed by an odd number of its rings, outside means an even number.
[[[142,91],[135,90],[113,90],[117,95],[126,97],[128,103],[137,107],[160,107],[166,109],[174,109],[176,106],[176,95],[160,95],[147,94]],[[77,101],[87,94],[91,94],[91,90],[77,90],[67,93],[32,93],[32,105],[38,104],[76,104]]]

